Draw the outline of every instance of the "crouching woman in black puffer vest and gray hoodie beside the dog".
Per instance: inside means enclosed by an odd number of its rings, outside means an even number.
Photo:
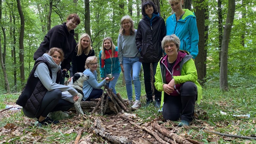
[[[30,73],[27,84],[16,104],[22,106],[27,117],[37,118],[37,126],[58,123],[47,115],[54,111],[67,111],[77,101],[77,91],[66,85],[57,84],[61,79],[60,65],[64,53],[53,47],[48,53],[39,57]],[[73,96],[62,95],[68,91]]]

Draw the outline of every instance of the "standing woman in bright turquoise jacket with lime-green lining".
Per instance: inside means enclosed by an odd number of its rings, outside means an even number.
[[[181,41],[180,49],[188,51],[195,59],[199,41],[196,16],[189,9],[181,9],[183,0],[169,0],[169,3],[175,13],[166,20],[166,35],[178,36]]]

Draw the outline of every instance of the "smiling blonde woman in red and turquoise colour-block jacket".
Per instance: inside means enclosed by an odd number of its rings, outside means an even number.
[[[115,80],[106,83],[117,94],[115,86],[119,78],[121,67],[118,59],[118,48],[113,44],[111,37],[106,37],[102,43],[102,49],[99,52],[99,71],[100,78],[103,80],[108,74],[112,74]]]

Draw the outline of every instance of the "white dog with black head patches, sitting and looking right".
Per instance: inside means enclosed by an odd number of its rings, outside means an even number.
[[[75,73],[75,75],[69,80],[70,83],[68,84],[68,86],[73,87],[78,92],[77,96],[79,97],[79,99],[74,104],[78,115],[84,115],[84,112],[80,106],[80,102],[84,96],[83,82],[88,79],[89,79],[88,75],[85,75],[83,73]],[[68,91],[62,92],[62,94],[71,95]],[[56,112],[49,113],[48,117],[52,119],[63,119],[63,118],[67,118],[68,114],[62,111],[56,111]]]

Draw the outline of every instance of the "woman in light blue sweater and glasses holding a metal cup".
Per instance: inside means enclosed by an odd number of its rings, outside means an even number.
[[[89,79],[87,81],[84,81],[84,86],[83,86],[84,101],[90,101],[91,99],[99,98],[103,93],[103,90],[101,89],[101,87],[107,81],[112,81],[115,78],[113,77],[112,79],[109,79],[108,77],[106,77],[103,81],[98,83],[97,72],[96,72],[97,68],[98,68],[98,63],[97,63],[96,56],[88,57],[85,61],[85,70],[83,72],[85,75],[89,75]]]

